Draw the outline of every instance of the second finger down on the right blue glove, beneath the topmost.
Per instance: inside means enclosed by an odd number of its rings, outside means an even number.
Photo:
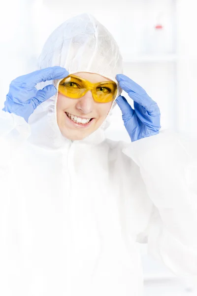
[[[133,92],[129,92],[128,95],[137,104],[143,106],[150,114],[160,112],[157,103],[153,101],[147,94],[139,95]]]

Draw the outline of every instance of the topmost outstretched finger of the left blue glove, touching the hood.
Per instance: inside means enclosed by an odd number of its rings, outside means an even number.
[[[11,83],[19,84],[23,87],[34,87],[39,82],[52,79],[61,79],[66,77],[67,75],[68,72],[65,68],[62,68],[60,66],[54,66],[19,76],[16,79],[12,80]]]

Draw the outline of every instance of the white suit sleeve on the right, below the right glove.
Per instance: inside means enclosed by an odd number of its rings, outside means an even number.
[[[176,275],[197,275],[196,145],[165,130],[123,149],[139,166],[153,202],[138,241]]]

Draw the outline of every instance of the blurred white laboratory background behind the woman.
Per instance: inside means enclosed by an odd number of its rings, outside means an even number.
[[[52,31],[68,18],[92,13],[115,37],[124,74],[158,103],[162,129],[197,138],[196,0],[9,0],[0,9],[0,106],[9,83],[37,69]],[[132,100],[126,93],[123,95]],[[118,106],[107,137],[130,138]],[[176,277],[140,245],[145,296],[197,296],[197,277]]]

